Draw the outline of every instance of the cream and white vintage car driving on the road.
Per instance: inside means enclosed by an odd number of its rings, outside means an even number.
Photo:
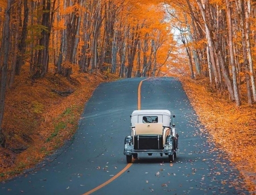
[[[160,153],[168,155],[168,160],[174,162],[177,156],[179,135],[169,110],[134,110],[131,117],[131,135],[125,138],[127,163],[137,159],[138,153]]]

